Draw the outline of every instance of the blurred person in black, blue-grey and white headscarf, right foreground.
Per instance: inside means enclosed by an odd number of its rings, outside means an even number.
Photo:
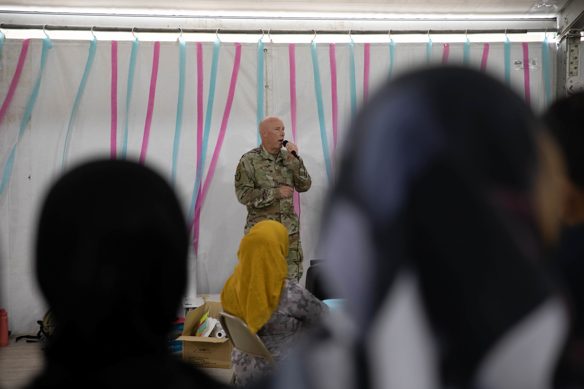
[[[320,388],[547,387],[567,322],[541,251],[561,168],[499,82],[462,68],[391,82],[354,121],[324,216],[347,324],[294,369]]]

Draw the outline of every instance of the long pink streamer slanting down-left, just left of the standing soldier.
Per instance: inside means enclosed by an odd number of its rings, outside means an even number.
[[[196,219],[194,223],[194,249],[199,250],[199,218],[201,214],[201,205],[205,195],[207,194],[207,189],[213,179],[213,173],[215,172],[215,167],[217,166],[217,160],[219,159],[219,153],[221,151],[221,146],[223,146],[223,140],[225,138],[225,131],[227,131],[227,122],[229,121],[229,115],[231,113],[231,106],[233,105],[233,97],[235,95],[235,85],[237,85],[237,75],[239,74],[239,62],[241,62],[241,44],[235,43],[235,62],[233,64],[233,72],[231,73],[231,84],[229,86],[229,94],[227,95],[227,104],[225,105],[225,111],[223,112],[223,120],[221,121],[221,128],[219,130],[219,137],[217,138],[217,144],[215,144],[215,151],[213,152],[213,158],[211,159],[211,164],[209,165],[209,170],[207,172],[207,177],[205,178],[205,184],[203,185],[203,192],[201,196],[197,197],[197,202],[194,206],[194,218]]]

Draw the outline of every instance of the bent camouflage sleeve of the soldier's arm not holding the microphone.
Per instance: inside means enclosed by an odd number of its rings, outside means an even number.
[[[253,182],[253,165],[242,157],[235,171],[235,196],[237,201],[245,206],[262,208],[273,204],[274,191],[272,188],[256,187]]]

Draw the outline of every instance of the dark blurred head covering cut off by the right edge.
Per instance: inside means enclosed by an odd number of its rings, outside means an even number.
[[[570,179],[584,187],[584,93],[577,93],[555,102],[543,119],[558,140],[566,161]]]

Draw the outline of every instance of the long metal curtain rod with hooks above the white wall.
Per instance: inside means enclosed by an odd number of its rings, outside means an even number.
[[[19,25],[11,23],[0,23],[0,28],[13,30],[71,30],[71,31],[90,31],[92,26],[64,26],[64,25]],[[93,26],[93,32],[132,32],[134,33],[179,33],[182,29],[183,33],[215,33],[219,31],[221,34],[260,34],[260,29],[193,29],[187,27],[116,27],[116,26]],[[267,29],[264,30],[267,32]],[[557,32],[558,29],[491,29],[491,30],[391,30],[391,34],[526,34],[529,32]],[[270,29],[271,34],[349,34],[349,30],[277,30]],[[387,30],[351,30],[352,35],[378,35],[387,34]]]

